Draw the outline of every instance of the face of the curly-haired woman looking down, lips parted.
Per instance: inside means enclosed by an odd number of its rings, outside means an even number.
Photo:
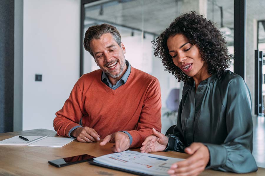
[[[176,34],[169,37],[167,46],[174,64],[186,75],[193,78],[202,78],[208,75],[207,64],[201,58],[198,47],[191,45],[185,35]]]

